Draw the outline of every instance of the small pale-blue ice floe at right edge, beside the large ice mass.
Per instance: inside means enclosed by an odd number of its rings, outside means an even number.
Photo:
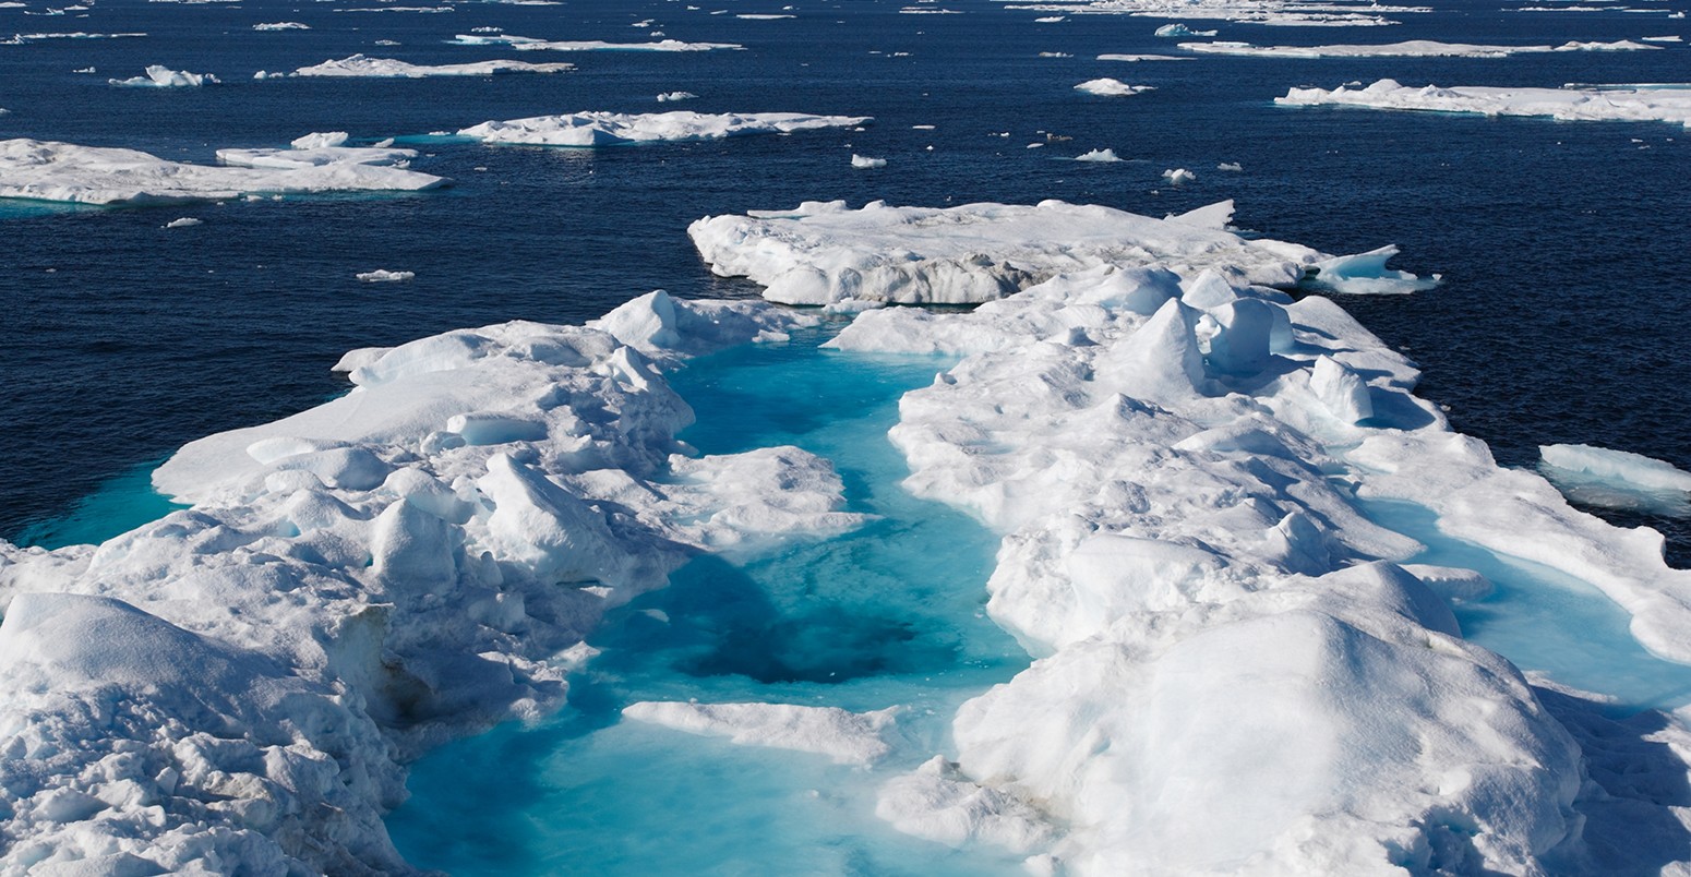
[[[1691,471],[1672,463],[1591,444],[1544,444],[1539,456],[1539,471],[1574,502],[1691,517]]]

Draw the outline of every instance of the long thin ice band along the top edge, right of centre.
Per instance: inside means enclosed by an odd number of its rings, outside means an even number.
[[[1397,7],[1363,0],[1074,0],[1062,3],[1006,3],[1004,8],[1067,12],[1070,15],[1202,19],[1282,27],[1388,25],[1398,24],[1398,20],[1387,15],[1431,12],[1429,7]]]

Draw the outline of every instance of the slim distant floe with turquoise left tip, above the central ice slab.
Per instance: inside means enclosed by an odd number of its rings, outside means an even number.
[[[851,128],[869,117],[807,113],[573,113],[507,122],[482,122],[458,132],[489,144],[617,145],[678,140],[719,140],[746,133],[788,133],[815,128]]]

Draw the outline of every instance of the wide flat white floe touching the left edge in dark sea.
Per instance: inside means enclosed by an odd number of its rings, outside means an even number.
[[[0,140],[0,198],[85,204],[216,201],[242,194],[419,191],[446,179],[362,162],[254,169],[186,164],[132,149]]]

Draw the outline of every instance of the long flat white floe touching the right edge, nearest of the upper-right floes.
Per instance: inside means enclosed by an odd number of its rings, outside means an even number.
[[[1564,122],[1672,122],[1691,127],[1691,86],[1415,88],[1380,79],[1368,88],[1294,88],[1285,106],[1344,105],[1375,110],[1551,117]]]

